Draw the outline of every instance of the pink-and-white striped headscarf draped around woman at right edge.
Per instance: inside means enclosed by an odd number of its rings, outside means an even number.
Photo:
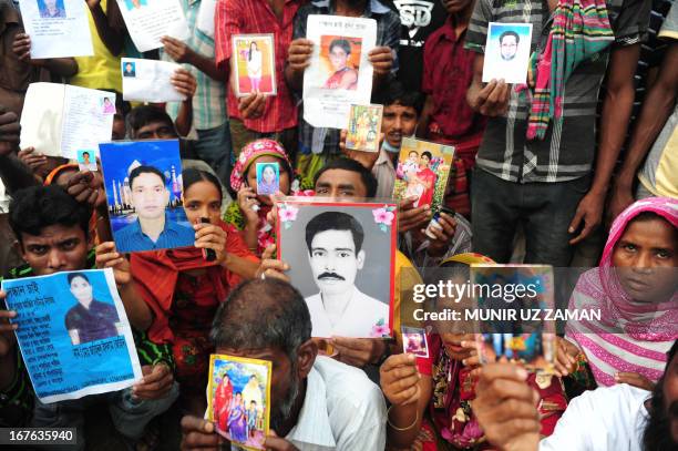
[[[660,304],[637,303],[622,287],[612,258],[631,219],[653,212],[678,227],[678,199],[651,197],[626,208],[613,223],[600,265],[584,273],[569,300],[571,310],[599,310],[600,320],[569,320],[566,338],[584,351],[598,386],[616,383],[617,372],[637,372],[657,381],[666,351],[678,338],[678,297]]]

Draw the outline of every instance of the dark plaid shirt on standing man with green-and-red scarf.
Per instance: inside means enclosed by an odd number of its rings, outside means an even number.
[[[640,42],[649,20],[649,2],[607,0],[618,45]],[[552,14],[546,0],[477,0],[466,33],[466,49],[483,54],[489,22],[532,23],[531,51],[543,49]],[[508,110],[491,117],[476,164],[505,181],[565,182],[590,173],[596,148],[596,104],[607,70],[609,48],[582,62],[565,83],[562,123],[552,122],[545,139],[527,141],[530,103],[525,93],[511,92]]]

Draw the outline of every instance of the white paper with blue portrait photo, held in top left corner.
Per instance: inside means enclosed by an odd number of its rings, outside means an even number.
[[[31,59],[94,54],[88,6],[82,0],[19,0]]]

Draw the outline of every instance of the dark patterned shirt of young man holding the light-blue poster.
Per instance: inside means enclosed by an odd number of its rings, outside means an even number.
[[[96,269],[96,255],[94,249],[88,253],[85,268]],[[19,279],[33,277],[35,273],[29,265],[22,265],[10,269],[6,279]],[[2,278],[0,277],[0,281]],[[4,303],[0,303],[0,308],[4,309]],[[136,346],[136,355],[142,366],[153,366],[160,362],[167,365],[172,371],[175,369],[174,356],[170,345],[157,345],[151,341],[144,331],[138,331],[132,327],[132,336]],[[14,379],[0,391],[0,427],[27,427],[33,414],[33,386],[28,370],[23,363],[19,347],[14,346],[16,373]]]

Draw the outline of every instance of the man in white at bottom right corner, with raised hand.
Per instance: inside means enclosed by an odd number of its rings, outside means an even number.
[[[678,448],[678,341],[650,393],[619,383],[572,400],[551,437],[540,442],[536,392],[511,363],[483,367],[473,411],[501,451],[670,451]]]

